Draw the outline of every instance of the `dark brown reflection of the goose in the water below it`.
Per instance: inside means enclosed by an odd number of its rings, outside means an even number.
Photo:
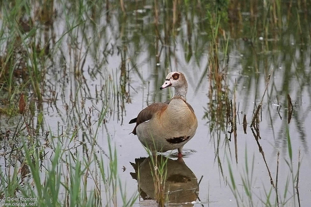
[[[193,206],[191,202],[198,198],[197,177],[187,167],[182,158],[172,160],[162,155],[157,155],[157,162],[167,159],[167,173],[165,179],[164,193],[168,197],[170,205]],[[154,159],[155,160],[155,159]],[[130,162],[131,163],[131,162]],[[132,178],[137,180],[138,190],[143,200],[155,199],[155,185],[151,172],[151,158],[136,158],[135,163],[131,163],[135,173],[130,173]],[[152,169],[154,171],[154,169]],[[139,172],[139,176],[137,175]]]

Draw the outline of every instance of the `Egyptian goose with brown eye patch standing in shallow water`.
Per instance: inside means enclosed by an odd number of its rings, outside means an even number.
[[[170,101],[147,106],[129,124],[136,123],[132,133],[137,134],[142,145],[151,149],[153,155],[156,151],[178,149],[178,156],[182,157],[184,144],[196,133],[197,117],[186,102],[188,83],[183,73],[167,74],[160,90],[170,86],[175,88]]]

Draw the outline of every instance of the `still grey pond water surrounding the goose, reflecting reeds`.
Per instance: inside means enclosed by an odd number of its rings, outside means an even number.
[[[107,14],[105,5],[101,5],[93,8],[95,11],[91,8],[85,13],[86,23],[73,29],[72,36],[69,33],[63,36],[68,29],[67,23],[76,25],[78,17],[74,14],[67,22],[66,12],[69,10],[63,10],[62,3],[54,2],[57,12],[53,23],[40,27],[36,32],[37,38],[44,43],[46,39],[52,44],[53,39],[64,38],[60,41],[61,46],[53,51],[49,64],[46,64],[49,67],[46,69],[47,81],[43,87],[44,101],[42,108],[37,106],[34,118],[36,122],[40,112],[43,112],[44,124],[39,134],[49,130],[55,136],[66,130],[66,133],[72,134],[79,128],[74,142],[68,146],[72,146],[72,150],[81,156],[89,156],[92,144],[90,137],[95,134],[98,114],[104,107],[107,114],[97,133],[95,151],[109,160],[109,135],[116,146],[119,178],[126,185],[127,194],[132,195],[137,190],[140,192],[135,206],[156,205],[152,201],[148,204],[148,200],[145,200],[154,195],[153,180],[145,172],[148,168],[143,163],[147,159],[140,162],[143,171],[141,180],[134,179],[133,173],[137,171],[135,163],[138,163],[139,158],[148,157],[148,154],[137,137],[129,134],[134,126],[128,122],[149,104],[169,99],[173,89],[160,91],[159,87],[168,72],[181,71],[188,80],[187,101],[195,111],[198,128],[196,135],[184,146],[182,160],[177,160],[176,154],[163,153],[169,157],[167,183],[170,189],[181,190],[176,195],[176,192],[170,194],[170,204],[237,205],[230,189],[233,186],[230,166],[239,192],[239,204],[250,205],[241,179],[247,177],[247,162],[249,171],[253,165],[253,176],[249,176],[252,178],[250,186],[253,204],[264,206],[266,193],[271,190],[271,205],[276,206],[276,193],[269,172],[275,185],[277,153],[280,152],[278,199],[283,203],[288,200],[285,206],[307,206],[311,203],[311,143],[308,142],[311,138],[308,133],[311,122],[310,11],[299,9],[297,2],[293,2],[291,10],[288,10],[289,2],[285,2],[279,11],[281,21],[272,25],[272,17],[267,15],[270,13],[265,13],[270,11],[268,6],[256,4],[249,7],[231,2],[226,12],[221,13],[225,17],[218,30],[219,33],[223,32],[219,37],[219,70],[223,79],[218,99],[215,82],[209,77],[212,71],[209,65],[212,38],[206,10],[203,6],[198,7],[189,2],[178,4],[177,10],[171,3],[159,4],[162,9],[159,10],[158,23],[155,23],[153,3],[129,2],[126,5],[126,16],[120,9],[112,9]],[[111,3],[110,6],[119,8],[118,4]],[[207,6],[213,7],[209,4]],[[266,15],[269,18],[265,19]],[[265,20],[269,20],[270,25],[267,27],[264,26]],[[276,29],[279,24],[280,28]],[[75,35],[77,38],[73,39]],[[226,56],[223,48],[228,39]],[[259,113],[261,138],[256,140],[249,125],[272,68],[273,73]],[[231,126],[226,123],[225,109],[226,97],[234,102],[235,81],[236,139],[234,133],[229,133]],[[287,94],[293,104],[289,124]],[[49,98],[55,101],[49,101]],[[223,108],[220,109],[220,106]],[[246,133],[243,129],[244,115],[248,123]],[[6,123],[7,120],[11,122]],[[12,121],[17,124],[18,120],[19,116],[9,119],[1,115],[1,131],[12,127]],[[301,151],[299,199],[296,189],[293,192],[290,167],[286,163],[290,163],[287,127],[294,175],[298,169],[299,149]],[[24,133],[27,134],[26,129]],[[48,142],[44,139],[45,135],[38,135],[37,138],[41,143]],[[1,143],[4,146],[3,140]],[[53,151],[51,148],[47,146],[46,152]],[[3,152],[6,154],[5,149],[2,149]],[[6,165],[6,159],[2,154],[2,170],[5,170],[3,166]],[[48,159],[44,162],[49,165]],[[91,178],[89,182],[93,182]],[[284,197],[286,182],[289,182],[289,187]],[[105,196],[102,202],[106,203]],[[121,198],[118,203],[122,203]]]

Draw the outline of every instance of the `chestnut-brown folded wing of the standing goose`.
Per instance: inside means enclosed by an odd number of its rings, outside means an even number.
[[[136,126],[133,129],[132,133],[136,135],[136,128],[139,124],[150,120],[157,112],[163,112],[167,106],[168,104],[166,103],[154,103],[144,108],[141,112],[139,112],[136,118]]]

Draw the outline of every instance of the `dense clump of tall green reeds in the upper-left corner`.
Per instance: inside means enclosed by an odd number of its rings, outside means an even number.
[[[67,4],[67,2],[62,3]],[[59,48],[65,38],[68,42],[70,40],[69,43],[75,55],[78,54],[77,48],[80,47],[77,45],[77,42],[80,41],[78,35],[85,27],[83,23],[85,23],[86,13],[93,5],[88,6],[83,1],[79,1],[75,6],[70,8],[64,6],[67,28],[63,34],[59,35],[58,39],[55,39],[48,32],[48,28],[53,27],[54,21],[53,1],[33,4],[32,1],[13,0],[0,3],[2,18],[0,94],[7,95],[7,99],[3,101],[4,106],[0,106],[0,112],[13,115],[16,110],[14,103],[20,92],[30,90],[29,92],[33,92],[36,99],[43,100],[48,68],[53,68],[55,61],[61,56]],[[81,27],[83,28],[81,29]],[[90,44],[87,42],[86,46],[89,47]],[[77,71],[81,71],[83,62],[81,55],[80,52],[79,61],[74,65],[75,74]]]

